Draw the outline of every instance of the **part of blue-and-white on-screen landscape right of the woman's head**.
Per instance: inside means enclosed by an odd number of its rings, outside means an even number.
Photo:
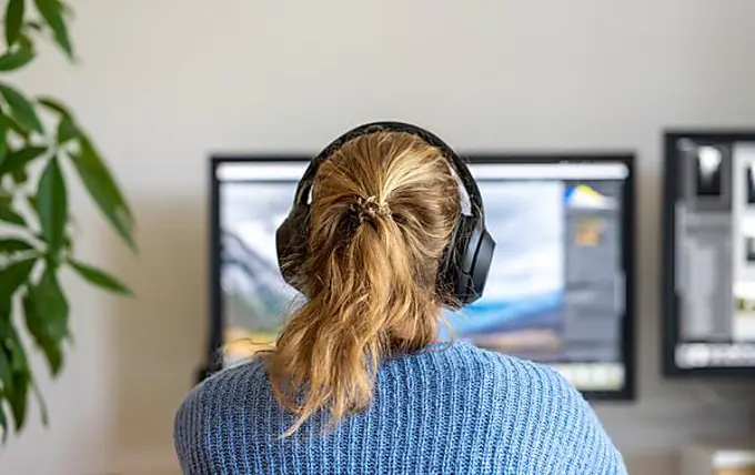
[[[547,361],[562,346],[564,184],[481,181],[480,189],[496,241],[490,275],[477,302],[446,312],[452,331],[443,327],[442,337]]]

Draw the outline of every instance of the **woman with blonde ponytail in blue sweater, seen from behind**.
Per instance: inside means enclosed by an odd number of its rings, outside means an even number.
[[[311,205],[286,224],[302,229],[279,235],[306,301],[273,348],[185,398],[185,474],[626,473],[557,373],[436,341],[442,309],[474,295],[445,282],[465,215],[453,152],[433,139],[361,128],[315,159]]]

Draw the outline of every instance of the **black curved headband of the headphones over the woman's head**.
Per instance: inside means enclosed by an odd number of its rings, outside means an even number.
[[[352,129],[348,131],[346,133],[342,134],[334,141],[332,141],[328,146],[325,146],[312,161],[310,162],[309,166],[306,168],[306,171],[304,171],[304,175],[302,176],[301,181],[299,182],[299,185],[296,186],[296,194],[295,194],[295,203],[294,205],[305,205],[306,204],[306,199],[310,193],[310,190],[312,189],[312,184],[314,183],[314,175],[318,172],[318,169],[320,168],[320,164],[330,158],[336,150],[339,150],[341,146],[343,146],[344,143],[356,139],[358,137],[361,135],[366,135],[370,133],[375,133],[375,132],[405,132],[405,133],[411,133],[412,135],[419,137],[422,139],[424,142],[427,144],[439,149],[441,153],[443,153],[443,156],[445,156],[449,160],[449,163],[451,166],[454,169],[456,172],[456,175],[459,176],[459,180],[462,182],[462,185],[464,186],[464,190],[466,191],[467,196],[470,198],[470,204],[471,204],[471,213],[473,216],[483,219],[484,218],[484,208],[482,204],[482,194],[480,193],[480,189],[477,188],[477,183],[474,181],[474,178],[472,176],[472,173],[470,173],[470,170],[466,168],[466,164],[464,161],[456,154],[456,152],[453,151],[451,146],[449,146],[441,138],[435,135],[434,133],[422,129],[416,125],[412,125],[410,123],[404,123],[404,122],[371,122],[366,123],[363,125],[360,125],[355,129]]]

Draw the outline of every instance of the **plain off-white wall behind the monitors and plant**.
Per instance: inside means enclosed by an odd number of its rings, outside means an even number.
[[[752,385],[660,376],[661,130],[755,125],[752,0],[80,0],[71,69],[46,51],[19,80],[78,112],[138,214],[131,260],[76,195],[84,257],[76,347],[0,473],[173,473],[173,410],[203,352],[207,159],[313,151],[362,121],[427,125],[460,149],[640,153],[640,386],[598,406],[635,474],[676,473],[698,437],[755,432]]]

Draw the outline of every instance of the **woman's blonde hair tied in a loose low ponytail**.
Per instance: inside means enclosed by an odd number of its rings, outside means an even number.
[[[298,417],[333,427],[365,408],[378,366],[435,340],[439,264],[459,214],[459,188],[440,150],[404,132],[344,143],[312,189],[309,249],[296,272],[308,301],[265,352],[273,393]]]

